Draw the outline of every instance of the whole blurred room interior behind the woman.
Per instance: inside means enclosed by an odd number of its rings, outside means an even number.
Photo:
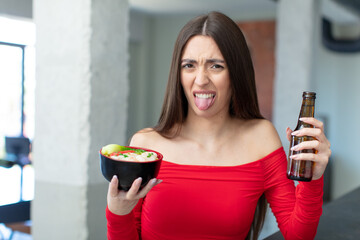
[[[177,34],[209,11],[243,30],[285,151],[317,93],[325,204],[360,186],[360,1],[0,0],[0,239],[106,239],[98,151],[156,124]]]

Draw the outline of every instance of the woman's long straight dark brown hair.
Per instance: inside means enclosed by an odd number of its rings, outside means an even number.
[[[254,67],[244,35],[229,17],[219,12],[211,12],[190,20],[176,39],[164,103],[154,130],[164,137],[175,137],[186,119],[188,102],[180,80],[181,57],[186,43],[196,35],[214,39],[228,66],[232,92],[230,116],[240,119],[263,119],[257,99]],[[265,196],[262,195],[246,239],[258,238],[264,223],[266,207]]]

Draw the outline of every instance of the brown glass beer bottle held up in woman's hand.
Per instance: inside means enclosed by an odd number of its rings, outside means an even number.
[[[300,130],[302,128],[313,128],[314,126],[303,121],[300,121],[302,117],[314,117],[315,111],[315,98],[316,93],[314,92],[303,92],[303,100],[301,105],[301,110],[299,114],[299,119],[296,125],[296,130]],[[292,180],[297,181],[311,181],[312,179],[312,161],[305,160],[293,160],[290,158],[291,155],[298,153],[315,153],[315,149],[304,149],[300,151],[291,150],[292,147],[298,145],[304,141],[311,141],[313,137],[310,136],[291,136],[290,149],[289,149],[289,157],[288,157],[288,167],[287,167],[287,177]]]

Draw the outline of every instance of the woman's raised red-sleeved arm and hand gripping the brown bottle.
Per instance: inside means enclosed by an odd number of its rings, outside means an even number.
[[[276,216],[279,228],[285,239],[313,239],[322,213],[323,173],[331,151],[330,143],[324,135],[323,124],[315,118],[304,118],[302,121],[315,128],[303,128],[290,135],[313,136],[316,140],[300,143],[298,150],[315,149],[316,153],[298,154],[294,159],[314,161],[314,175],[311,182],[300,182],[296,189],[293,181],[287,179],[287,159],[285,152],[278,159],[266,166],[266,198]]]

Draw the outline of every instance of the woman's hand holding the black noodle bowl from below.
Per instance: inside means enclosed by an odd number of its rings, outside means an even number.
[[[153,178],[143,189],[139,191],[141,181],[141,178],[135,179],[129,191],[125,192],[118,189],[118,178],[114,175],[109,183],[107,194],[107,205],[110,212],[117,215],[129,214],[134,209],[140,198],[145,197],[154,186],[162,182],[162,180]]]

